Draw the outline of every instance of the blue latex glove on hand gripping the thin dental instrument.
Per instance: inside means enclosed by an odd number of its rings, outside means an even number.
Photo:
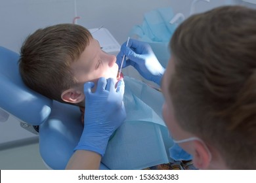
[[[149,44],[135,39],[130,39],[128,46],[126,46],[126,42],[123,43],[119,54],[117,54],[116,63],[119,67],[121,66],[123,55],[129,58],[125,59],[123,67],[133,65],[145,79],[160,86],[165,69],[161,66]]]

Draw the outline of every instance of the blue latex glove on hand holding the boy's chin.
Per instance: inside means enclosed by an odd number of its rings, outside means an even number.
[[[95,93],[93,82],[84,84],[85,125],[75,150],[90,150],[104,156],[108,140],[125,120],[123,105],[125,84],[119,80],[117,88],[113,78],[99,78]]]

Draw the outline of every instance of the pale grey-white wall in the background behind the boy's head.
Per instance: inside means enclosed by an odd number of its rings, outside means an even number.
[[[192,0],[77,0],[78,24],[87,28],[103,25],[121,44],[133,25],[141,24],[143,14],[160,7],[172,7],[186,17]],[[240,3],[240,0],[200,1],[196,12],[224,4]],[[0,45],[15,52],[28,34],[40,27],[60,23],[72,23],[75,16],[75,0],[0,0]]]

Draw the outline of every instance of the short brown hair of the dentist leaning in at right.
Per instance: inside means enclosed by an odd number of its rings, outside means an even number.
[[[219,7],[185,20],[171,43],[177,121],[230,169],[256,167],[256,10]]]

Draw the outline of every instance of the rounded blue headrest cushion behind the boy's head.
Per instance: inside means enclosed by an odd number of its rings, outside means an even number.
[[[39,125],[51,114],[53,100],[28,88],[18,70],[19,54],[0,46],[1,108],[31,125]]]

